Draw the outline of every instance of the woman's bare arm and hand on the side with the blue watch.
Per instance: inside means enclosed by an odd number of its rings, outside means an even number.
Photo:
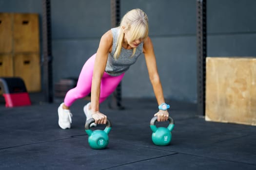
[[[164,96],[163,96],[163,89],[160,82],[160,78],[158,75],[158,68],[157,68],[157,62],[156,62],[156,56],[153,48],[152,41],[150,37],[147,37],[144,40],[143,44],[143,53],[145,55],[146,65],[148,68],[149,73],[149,79],[153,86],[153,90],[155,93],[155,96],[158,101],[158,105],[161,103],[164,103]],[[158,113],[155,114],[155,116],[158,116],[158,121],[165,121],[169,117],[169,113],[164,110],[159,110]]]

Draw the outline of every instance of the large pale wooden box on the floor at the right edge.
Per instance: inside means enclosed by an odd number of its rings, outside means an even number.
[[[206,58],[205,120],[256,125],[256,58]]]

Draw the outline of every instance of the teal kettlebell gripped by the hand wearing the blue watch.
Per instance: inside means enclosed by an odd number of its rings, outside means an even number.
[[[174,128],[174,120],[169,117],[168,120],[170,124],[167,128],[165,127],[157,127],[155,125],[156,121],[158,120],[158,117],[154,117],[150,121],[150,128],[153,131],[152,133],[152,141],[155,145],[158,146],[166,146],[169,145],[169,143],[172,140],[172,133],[171,131]]]

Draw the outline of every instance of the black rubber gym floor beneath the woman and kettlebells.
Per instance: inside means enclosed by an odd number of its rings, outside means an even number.
[[[30,96],[31,106],[5,108],[0,102],[0,169],[256,170],[256,126],[205,121],[196,116],[195,104],[168,101],[175,128],[171,144],[160,147],[153,144],[149,127],[155,100],[123,99],[125,110],[111,110],[104,102],[101,111],[112,122],[109,144],[93,150],[84,132],[87,101],[73,104],[72,128],[62,130],[60,101],[48,104]]]

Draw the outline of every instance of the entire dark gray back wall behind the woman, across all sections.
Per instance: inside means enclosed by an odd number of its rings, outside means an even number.
[[[149,17],[165,98],[196,103],[196,0],[120,0],[120,5],[121,17],[133,8]],[[42,0],[0,0],[0,12],[38,13],[42,46]],[[255,14],[255,0],[207,0],[207,56],[255,56]],[[51,19],[56,83],[78,77],[97,51],[100,36],[111,28],[110,0],[51,0]],[[143,56],[126,73],[122,97],[154,98]]]

